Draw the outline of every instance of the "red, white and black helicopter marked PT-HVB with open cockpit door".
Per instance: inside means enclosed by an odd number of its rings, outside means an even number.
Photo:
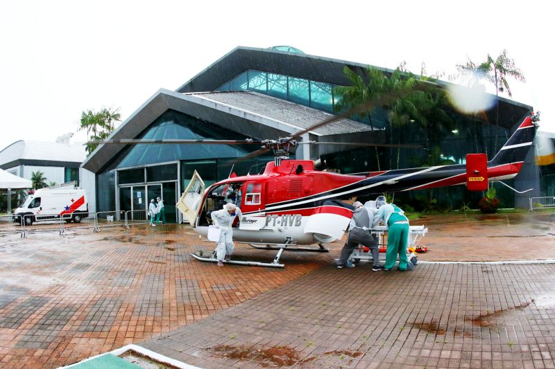
[[[356,175],[325,172],[317,170],[313,161],[287,159],[287,149],[302,144],[293,137],[277,141],[203,140],[203,143],[259,143],[262,149],[248,157],[274,150],[275,160],[266,165],[262,174],[228,178],[207,189],[195,172],[176,206],[196,232],[207,236],[210,211],[221,208],[225,204],[226,192],[236,188],[233,201],[241,208],[243,215],[234,229],[234,241],[248,243],[257,249],[278,250],[278,253],[271,263],[237,260],[229,263],[284,267],[280,264],[283,251],[325,252],[324,243],[343,236],[352,217],[352,206],[341,200],[464,184],[469,190],[486,190],[488,181],[515,177],[533,143],[538,120],[539,116],[534,114],[524,118],[509,141],[490,161],[487,161],[485,154],[468,154],[466,165],[438,165]],[[135,143],[132,141],[119,140],[117,143]],[[299,246],[311,244],[318,244],[319,248]],[[210,253],[206,257],[204,254],[191,255],[197,260],[216,262]]]

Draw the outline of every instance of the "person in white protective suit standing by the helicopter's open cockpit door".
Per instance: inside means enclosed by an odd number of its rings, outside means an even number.
[[[233,244],[233,228],[231,226],[235,217],[239,217],[239,222],[241,222],[241,215],[241,209],[231,203],[225,204],[222,210],[213,211],[210,214],[214,226],[221,229],[220,239],[216,247],[218,267],[223,267],[223,260],[231,260],[231,255],[235,248]]]

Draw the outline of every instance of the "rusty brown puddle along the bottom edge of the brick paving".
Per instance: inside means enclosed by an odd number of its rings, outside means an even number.
[[[262,346],[234,346],[234,345],[216,345],[213,348],[207,348],[216,357],[225,359],[235,359],[241,361],[251,361],[259,363],[263,367],[267,366],[296,366],[303,368],[309,365],[311,368],[316,367],[334,367],[342,368],[345,364],[350,363],[353,359],[357,359],[363,355],[359,351],[335,350],[319,354],[318,356],[300,359],[300,353],[293,348],[287,346],[277,346],[275,348],[264,348]],[[346,361],[346,362],[345,362]],[[343,365],[341,365],[341,363]]]

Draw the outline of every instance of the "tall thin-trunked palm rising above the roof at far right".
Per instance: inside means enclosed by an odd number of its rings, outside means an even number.
[[[495,58],[488,54],[488,58],[485,62],[477,65],[471,60],[466,62],[466,65],[457,65],[457,69],[463,72],[473,72],[477,74],[478,78],[483,78],[495,85],[495,96],[497,99],[496,112],[495,112],[495,127],[497,127],[495,132],[495,144],[493,152],[497,152],[497,139],[499,138],[499,92],[506,91],[509,98],[513,97],[511,93],[511,87],[509,87],[509,82],[506,77],[515,78],[520,82],[526,82],[522,71],[515,66],[515,61],[507,56],[507,51],[503,51]]]

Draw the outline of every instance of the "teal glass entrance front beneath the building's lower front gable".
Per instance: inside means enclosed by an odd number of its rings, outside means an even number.
[[[178,111],[167,111],[139,135],[144,139],[237,139],[244,135]],[[256,174],[267,156],[234,163],[253,145],[139,144],[119,153],[99,174],[97,211],[146,210],[151,199],[164,199],[168,222],[178,221],[175,204],[196,170],[207,186],[232,172]]]

